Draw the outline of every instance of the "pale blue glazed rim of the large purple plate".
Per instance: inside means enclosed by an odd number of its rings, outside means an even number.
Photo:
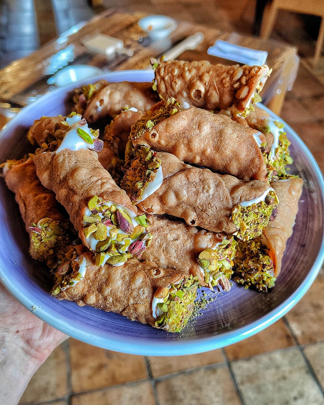
[[[138,80],[141,79],[147,79],[149,74],[153,77],[153,72],[150,71],[144,71],[144,70],[124,70],[121,72],[111,72],[107,73],[105,75],[100,75],[98,77],[91,78],[91,81],[95,82],[99,79],[106,78],[109,79],[109,76],[120,76],[120,79],[126,79],[128,75],[131,73],[136,73],[138,74],[139,78]],[[119,80],[122,81],[122,80]],[[85,81],[80,81],[76,83],[72,83],[71,85],[67,85],[65,88],[66,90],[72,90],[78,83],[84,83]],[[62,91],[61,87],[60,89],[53,90],[53,92],[60,92]],[[28,105],[25,107],[25,111],[28,111],[28,109],[32,108],[32,106],[35,103],[38,102],[44,102],[47,97],[51,97],[51,94],[53,92],[50,92],[49,94],[46,94],[45,96],[40,97],[38,100],[36,100],[34,103]],[[259,104],[259,106],[267,111],[272,117],[277,117],[271,110],[269,110],[267,107],[263,106],[262,104]],[[15,117],[11,120],[11,122],[14,123]],[[313,155],[305,145],[305,143],[301,140],[301,138],[296,134],[296,132],[288,125],[286,122],[284,122],[282,119],[280,119],[281,122],[285,124],[285,127],[289,129],[290,135],[292,135],[294,141],[298,143],[299,147],[303,150],[305,155],[307,156],[309,163],[311,164],[315,176],[318,180],[319,187],[322,191],[322,196],[324,195],[324,179],[323,175],[320,171],[320,168],[313,158]],[[11,123],[9,122],[9,124]],[[8,124],[8,125],[9,125]],[[243,339],[246,339],[248,337],[251,337],[255,335],[256,333],[260,332],[261,330],[267,328],[268,326],[272,325],[274,322],[279,320],[283,315],[285,315],[298,301],[305,295],[313,281],[315,280],[316,276],[318,275],[322,263],[324,261],[324,230],[322,234],[322,243],[318,252],[318,255],[316,257],[316,260],[314,261],[313,265],[311,266],[311,269],[309,270],[309,273],[307,277],[303,280],[301,285],[293,292],[292,295],[290,295],[289,298],[287,298],[283,303],[281,303],[278,307],[267,313],[266,315],[262,316],[260,319],[243,326],[241,328],[232,330],[230,332],[225,332],[222,333],[221,335],[215,335],[212,337],[207,337],[207,338],[201,338],[199,341],[194,341],[194,342],[188,342],[188,341],[160,341],[159,343],[156,343],[154,341],[151,343],[150,341],[145,341],[145,344],[137,344],[137,343],[130,343],[129,341],[123,342],[123,341],[117,341],[113,339],[108,339],[106,337],[99,337],[92,335],[90,333],[85,333],[82,330],[76,329],[72,327],[68,322],[64,322],[62,320],[58,320],[55,318],[53,315],[50,315],[46,311],[44,311],[41,307],[37,307],[37,310],[34,312],[34,315],[36,315],[38,318],[41,320],[47,322],[49,325],[53,326],[54,328],[61,330],[62,332],[66,333],[67,335],[78,339],[80,341],[83,341],[85,343],[89,343],[90,345],[96,345],[98,347],[102,347],[104,349],[109,349],[113,350],[115,352],[122,352],[122,353],[127,353],[127,354],[136,354],[136,355],[142,355],[142,356],[181,356],[181,355],[188,355],[188,354],[197,354],[197,353],[202,353],[202,352],[208,352],[210,350],[215,350],[219,349],[221,347],[225,347],[228,345],[231,345],[233,343],[237,343]],[[4,286],[13,294],[18,301],[20,301],[29,311],[31,307],[34,307],[35,302],[31,301],[29,298],[27,298],[25,295],[23,295],[19,289],[11,282],[11,280],[6,277],[6,275],[3,273],[2,269],[0,269],[0,281],[4,284]]]

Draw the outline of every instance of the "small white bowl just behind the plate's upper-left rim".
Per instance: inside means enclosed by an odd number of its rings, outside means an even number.
[[[75,81],[89,79],[90,77],[98,76],[102,70],[96,66],[90,65],[71,65],[59,70],[55,73],[55,85],[58,87],[66,86]]]

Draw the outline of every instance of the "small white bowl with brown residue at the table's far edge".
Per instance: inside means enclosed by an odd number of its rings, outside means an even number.
[[[148,15],[139,20],[139,27],[152,39],[162,39],[177,28],[177,22],[165,15]]]

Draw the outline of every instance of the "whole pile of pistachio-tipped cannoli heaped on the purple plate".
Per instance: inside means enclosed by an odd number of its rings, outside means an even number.
[[[153,68],[153,85],[76,89],[76,112],[37,120],[35,153],[2,166],[53,296],[180,332],[198,286],[274,286],[303,181],[254,107],[267,66]]]

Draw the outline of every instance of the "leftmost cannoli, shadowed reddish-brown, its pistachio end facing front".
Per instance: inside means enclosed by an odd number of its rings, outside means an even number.
[[[30,158],[9,160],[3,165],[3,176],[8,188],[15,193],[29,233],[30,255],[52,266],[57,262],[59,251],[71,243],[67,213],[58,204],[55,194],[40,183]]]

